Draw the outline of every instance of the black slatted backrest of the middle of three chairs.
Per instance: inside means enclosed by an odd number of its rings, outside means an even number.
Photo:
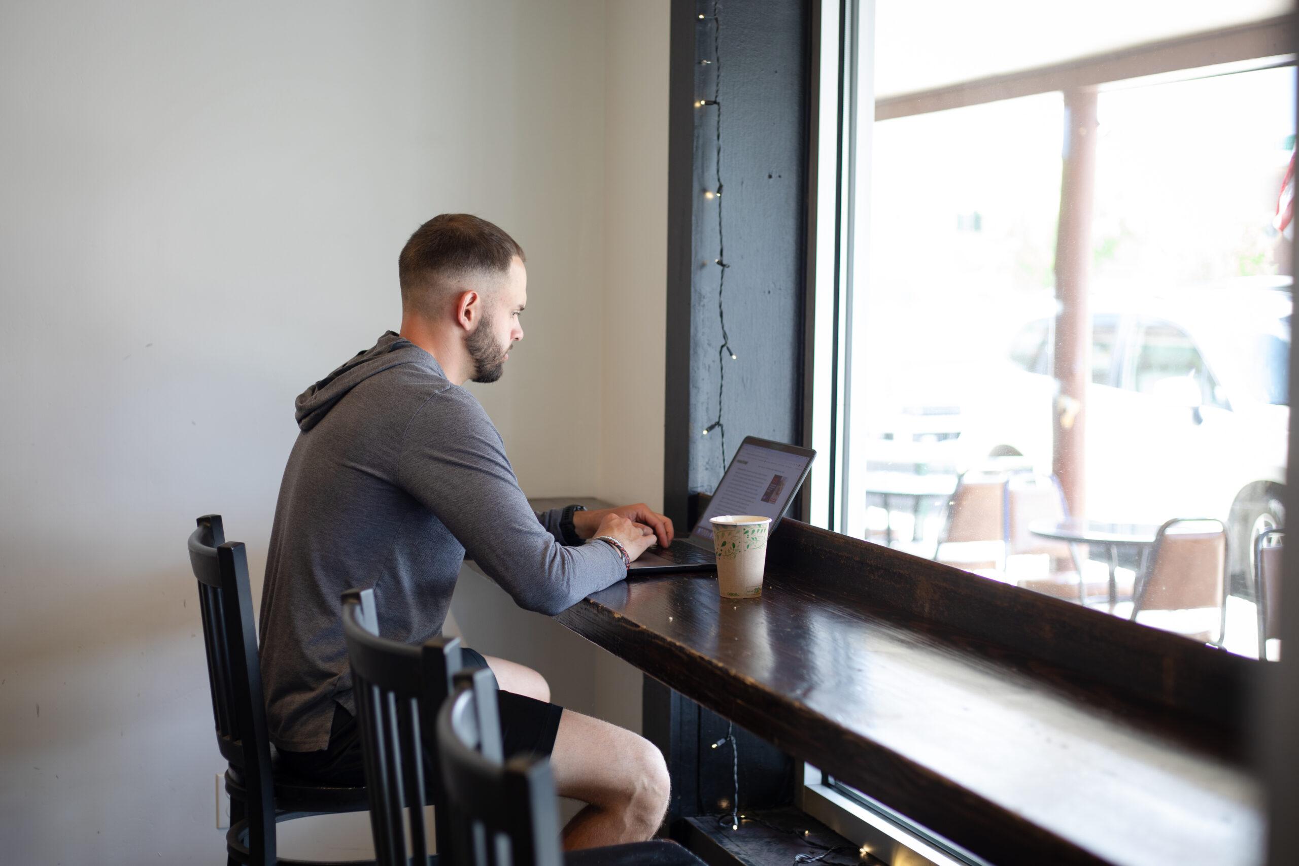
[[[381,637],[373,589],[343,593],[343,636],[352,665],[375,862],[429,863],[425,806],[435,806],[438,852],[449,845],[434,723],[451,693],[451,675],[460,670],[460,640],[435,637],[410,645]]]

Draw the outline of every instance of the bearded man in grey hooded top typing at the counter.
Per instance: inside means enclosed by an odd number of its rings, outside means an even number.
[[[466,379],[500,378],[523,339],[523,251],[468,214],[420,227],[399,258],[401,332],[309,387],[284,469],[261,602],[270,737],[287,767],[362,784],[340,593],[374,589],[385,636],[440,634],[468,553],[514,601],[556,614],[626,576],[672,522],[644,505],[534,513]],[[583,544],[587,539],[590,544]],[[540,674],[465,650],[500,687],[505,753],[549,754],[561,796],[588,805],[565,848],[648,839],[668,773],[647,740],[549,704]]]

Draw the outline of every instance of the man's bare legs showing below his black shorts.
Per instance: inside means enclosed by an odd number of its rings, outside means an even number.
[[[551,700],[531,667],[485,656],[501,691]],[[651,839],[668,811],[668,765],[642,736],[609,722],[564,710],[551,752],[561,797],[588,804],[564,828],[565,850]]]

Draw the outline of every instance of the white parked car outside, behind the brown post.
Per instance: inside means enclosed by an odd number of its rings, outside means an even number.
[[[1222,519],[1229,570],[1247,574],[1254,539],[1285,523],[1290,278],[1094,293],[1090,304],[1087,515]],[[883,418],[869,434],[869,467],[961,473],[1022,456],[1050,473],[1053,327],[1043,310],[999,361],[944,375],[933,396]]]

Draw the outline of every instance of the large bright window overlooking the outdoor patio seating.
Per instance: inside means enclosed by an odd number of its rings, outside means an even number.
[[[1289,4],[838,5],[821,522],[1267,656],[1252,551],[1285,518],[1295,68],[1267,27],[1216,40]],[[1207,636],[1205,612],[1141,597],[1177,518],[1221,527]]]

